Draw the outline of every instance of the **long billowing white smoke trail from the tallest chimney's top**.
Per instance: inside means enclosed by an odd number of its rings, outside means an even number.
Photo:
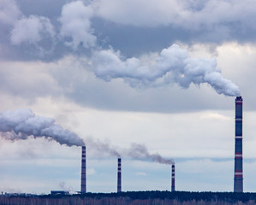
[[[114,50],[99,50],[92,56],[95,75],[110,81],[122,78],[132,87],[178,84],[189,85],[207,83],[225,96],[240,96],[237,85],[224,79],[215,59],[192,58],[187,50],[173,44],[156,56],[128,58]]]

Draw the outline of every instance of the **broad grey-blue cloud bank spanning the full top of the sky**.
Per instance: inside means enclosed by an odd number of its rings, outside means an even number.
[[[177,41],[255,42],[255,3],[249,0],[242,3],[161,0],[157,7],[154,1],[145,0],[1,0],[0,3],[4,5],[0,12],[2,47],[10,50],[7,58],[20,60],[52,61],[68,53],[87,54],[95,45],[113,46],[130,57],[162,50]],[[34,23],[29,23],[32,20]],[[27,29],[30,35],[24,32],[26,26],[21,31],[27,37],[22,41],[21,36],[14,36],[20,33],[21,25],[30,26]]]

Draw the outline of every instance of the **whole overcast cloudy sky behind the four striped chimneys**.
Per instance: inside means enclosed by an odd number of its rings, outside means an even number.
[[[0,0],[0,191],[80,190],[80,147],[30,136],[44,136],[32,125],[45,123],[87,142],[88,191],[116,191],[116,155],[95,142],[120,153],[143,144],[173,159],[176,190],[232,191],[239,95],[244,190],[256,191],[255,8],[253,0]],[[21,114],[35,124],[18,129]],[[123,156],[122,190],[170,190],[170,165]]]

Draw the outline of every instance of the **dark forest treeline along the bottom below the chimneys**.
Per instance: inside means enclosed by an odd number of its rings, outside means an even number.
[[[131,191],[85,195],[0,196],[4,205],[253,205],[256,193]]]

